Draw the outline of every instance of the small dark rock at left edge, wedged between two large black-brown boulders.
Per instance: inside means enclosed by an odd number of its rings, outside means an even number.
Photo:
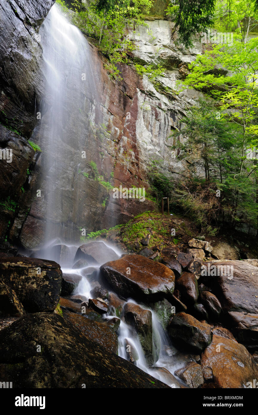
[[[0,280],[0,315],[22,317],[23,314],[25,310],[15,292]]]

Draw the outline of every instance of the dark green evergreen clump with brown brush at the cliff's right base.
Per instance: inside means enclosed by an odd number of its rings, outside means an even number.
[[[187,115],[181,131],[185,142],[175,146],[184,151],[183,157],[191,157],[195,168],[175,186],[177,207],[209,234],[216,233],[223,222],[231,223],[233,228],[239,222],[257,227],[256,166],[242,155],[241,124],[218,118],[216,109],[204,101]]]

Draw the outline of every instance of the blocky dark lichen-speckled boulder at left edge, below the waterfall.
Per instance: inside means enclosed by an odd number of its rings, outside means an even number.
[[[26,311],[54,311],[57,307],[62,271],[56,262],[0,258],[0,278],[15,291]]]

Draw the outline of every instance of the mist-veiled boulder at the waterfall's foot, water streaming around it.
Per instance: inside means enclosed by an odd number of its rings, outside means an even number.
[[[104,244],[104,242],[89,242],[88,244],[81,245],[77,249],[74,261],[79,259],[86,259],[93,264],[104,264],[107,261],[114,261],[118,259],[118,255]]]

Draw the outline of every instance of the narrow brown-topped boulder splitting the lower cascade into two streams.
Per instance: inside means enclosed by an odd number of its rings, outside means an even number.
[[[153,347],[152,313],[144,310],[140,305],[126,303],[124,306],[125,322],[134,327],[145,354],[148,364],[154,364],[158,359],[159,351]]]

